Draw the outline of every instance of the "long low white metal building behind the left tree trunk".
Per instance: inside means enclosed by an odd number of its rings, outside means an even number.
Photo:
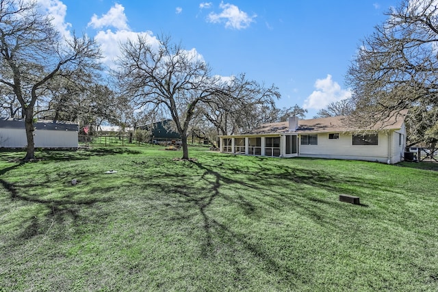
[[[37,148],[77,148],[79,124],[40,120],[34,123],[34,145]],[[26,148],[25,121],[0,118],[0,148]]]

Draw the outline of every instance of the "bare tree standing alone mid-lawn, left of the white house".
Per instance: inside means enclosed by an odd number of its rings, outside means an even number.
[[[171,116],[181,135],[183,159],[189,159],[188,129],[201,103],[218,91],[218,78],[211,77],[208,64],[194,51],[173,44],[169,36],[159,45],[139,36],[121,46],[114,76],[125,96],[137,107]]]

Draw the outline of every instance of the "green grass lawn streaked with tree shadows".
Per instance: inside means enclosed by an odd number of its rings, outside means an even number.
[[[438,291],[435,166],[162,149],[0,152],[0,291]]]

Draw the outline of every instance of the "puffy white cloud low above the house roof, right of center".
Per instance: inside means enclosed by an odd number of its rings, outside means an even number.
[[[331,79],[331,75],[327,75],[325,79],[317,79],[315,89],[309,97],[304,101],[303,108],[305,109],[324,109],[336,101],[350,98],[351,91],[344,90],[341,86]]]

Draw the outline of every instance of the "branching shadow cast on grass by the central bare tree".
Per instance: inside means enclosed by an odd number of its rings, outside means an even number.
[[[336,232],[342,224],[339,223],[339,218],[328,214],[326,210],[342,211],[350,208],[346,207],[345,203],[337,201],[339,194],[345,192],[337,184],[352,183],[363,187],[383,187],[377,183],[370,186],[369,182],[354,176],[337,178],[330,172],[322,170],[293,169],[285,165],[276,165],[274,172],[260,161],[252,161],[248,168],[243,169],[223,161],[181,163],[185,163],[184,168],[187,171],[184,173],[179,173],[176,169],[159,170],[151,176],[139,174],[136,177],[140,181],[148,181],[145,187],[159,189],[169,198],[176,198],[175,202],[166,203],[165,208],[172,215],[166,215],[165,220],[170,220],[173,224],[175,222],[185,224],[193,220],[196,222],[196,217],[201,217],[201,224],[198,225],[203,230],[202,241],[199,242],[201,256],[214,257],[217,250],[220,250],[217,246],[220,240],[221,244],[227,245],[231,250],[244,248],[246,252],[257,258],[257,261],[265,264],[263,267],[266,272],[274,273],[285,281],[289,281],[289,277],[297,278],[296,271],[277,263],[263,246],[246,238],[240,230],[233,230],[228,226],[226,222],[230,218],[220,217],[218,211],[214,210],[218,204],[227,202],[255,222],[266,220],[266,216],[276,212],[296,212],[315,224]],[[287,190],[281,183],[288,184],[291,188]],[[334,196],[325,198],[318,194],[309,194],[300,191],[303,187],[323,189],[333,193]],[[355,213],[354,210],[351,212]],[[233,260],[229,258],[229,261]],[[235,273],[239,274],[239,264],[235,262],[233,266],[236,269]]]

